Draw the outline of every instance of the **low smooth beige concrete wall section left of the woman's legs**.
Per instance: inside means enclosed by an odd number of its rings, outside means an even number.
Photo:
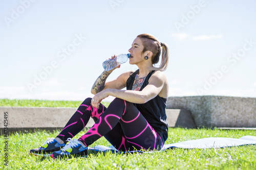
[[[8,112],[9,128],[63,128],[76,108],[53,107],[0,107],[1,112]],[[3,122],[0,128],[3,128]],[[94,121],[90,119],[88,126]]]

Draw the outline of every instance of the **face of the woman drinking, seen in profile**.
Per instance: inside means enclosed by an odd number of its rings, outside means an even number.
[[[128,50],[131,54],[131,57],[129,58],[130,64],[137,64],[138,62],[143,61],[144,56],[142,56],[144,46],[142,45],[142,41],[140,38],[135,38],[133,41],[132,47]]]

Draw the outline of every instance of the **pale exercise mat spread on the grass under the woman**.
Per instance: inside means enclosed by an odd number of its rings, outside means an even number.
[[[202,138],[196,140],[187,140],[178,143],[172,144],[164,144],[163,148],[160,151],[162,152],[166,149],[173,149],[173,148],[182,148],[182,149],[209,149],[209,148],[224,148],[224,147],[237,147],[241,145],[247,144],[256,144],[256,136],[243,136],[239,139],[236,138],[227,138],[227,137],[209,137],[209,138]],[[96,147],[88,147],[88,150],[96,151],[96,152],[119,152],[115,149],[112,145],[110,147],[105,147],[103,145],[98,145]],[[127,153],[133,152],[142,152],[142,151],[130,151]],[[146,152],[146,153],[152,153]]]

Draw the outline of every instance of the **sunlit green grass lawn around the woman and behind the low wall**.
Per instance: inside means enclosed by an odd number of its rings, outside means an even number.
[[[13,102],[13,101],[12,101]],[[31,102],[31,103],[30,103]],[[49,104],[47,101],[13,102],[11,106],[64,107]],[[66,101],[65,101],[66,102]],[[63,103],[65,103],[63,102]],[[1,106],[3,105],[1,102]],[[20,105],[20,103],[23,103]],[[30,104],[28,104],[30,103]],[[62,103],[62,102],[60,102]],[[81,102],[78,102],[78,105]],[[76,105],[76,103],[74,103]],[[66,105],[65,107],[77,107]],[[48,137],[55,137],[60,131],[54,132],[34,130],[30,132],[15,132],[9,135],[8,166],[4,165],[4,136],[1,140],[0,168],[7,169],[256,169],[256,145],[231,147],[222,149],[173,149],[156,153],[112,154],[89,152],[87,158],[71,158],[67,160],[53,160],[50,157],[36,157],[29,155],[29,150],[38,148]],[[76,138],[84,134],[80,132]],[[256,136],[255,130],[220,130],[220,129],[184,129],[169,128],[169,136],[165,144],[206,137],[240,138],[245,135]],[[94,142],[95,145],[109,146],[105,138]]]

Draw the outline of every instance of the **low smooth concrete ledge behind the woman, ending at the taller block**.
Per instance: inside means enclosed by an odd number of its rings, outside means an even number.
[[[0,107],[0,112],[8,114],[9,131],[25,131],[33,129],[62,129],[77,108],[52,108],[52,107]],[[180,109],[167,109],[169,127],[195,128],[191,113]],[[4,126],[4,115],[0,118],[1,131]],[[92,127],[91,118],[86,127]]]

